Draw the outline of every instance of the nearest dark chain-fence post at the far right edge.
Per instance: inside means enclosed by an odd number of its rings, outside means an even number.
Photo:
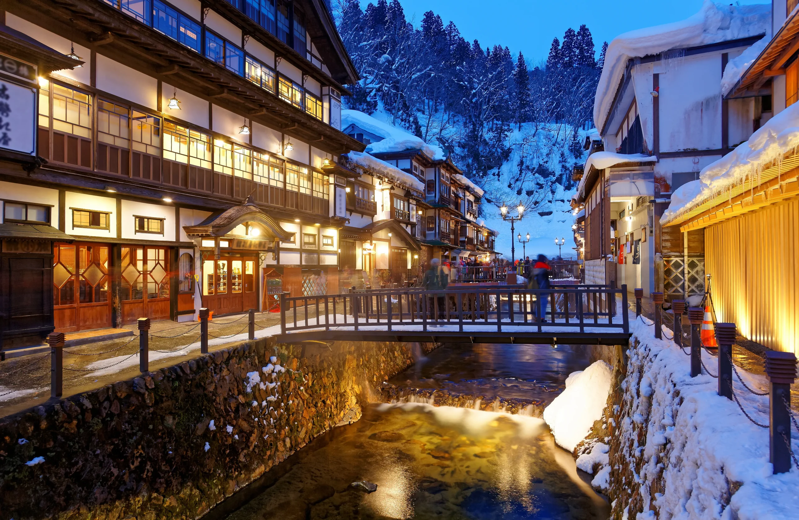
[[[793,352],[767,351],[765,373],[769,376],[769,462],[773,471],[791,469],[791,384],[797,375]]]

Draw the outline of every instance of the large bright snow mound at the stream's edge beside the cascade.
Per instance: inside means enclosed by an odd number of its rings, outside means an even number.
[[[543,419],[560,447],[574,451],[594,421],[602,418],[611,371],[608,363],[596,361],[586,370],[570,374],[566,390],[544,409]]]

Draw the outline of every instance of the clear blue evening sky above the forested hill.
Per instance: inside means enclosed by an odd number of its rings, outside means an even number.
[[[770,3],[739,0],[741,4]],[[365,9],[369,0],[361,0]],[[725,2],[729,3],[729,2]],[[455,22],[460,34],[481,46],[500,44],[511,49],[514,58],[521,50],[528,66],[546,59],[552,38],[563,38],[569,27],[586,24],[594,36],[597,53],[602,42],[642,27],[677,22],[697,13],[702,0],[400,0],[405,16],[419,26],[425,11],[439,14],[446,26]]]

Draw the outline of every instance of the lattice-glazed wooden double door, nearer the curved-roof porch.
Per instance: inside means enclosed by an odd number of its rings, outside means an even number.
[[[122,323],[139,318],[169,320],[169,249],[121,248]]]

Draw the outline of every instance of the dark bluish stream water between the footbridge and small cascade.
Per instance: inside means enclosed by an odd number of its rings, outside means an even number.
[[[593,361],[582,345],[447,343],[388,382],[397,387],[435,388],[493,398],[540,400],[566,386],[571,372]]]

